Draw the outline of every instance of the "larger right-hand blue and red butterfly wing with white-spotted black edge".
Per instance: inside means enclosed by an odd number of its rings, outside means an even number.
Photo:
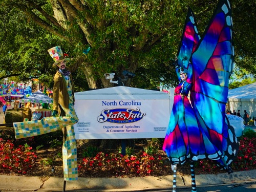
[[[230,146],[232,153],[237,148],[232,146],[236,138],[225,122],[233,58],[231,7],[224,0],[218,4],[203,38],[191,56],[194,82],[191,103],[204,138],[213,144],[208,147],[208,141],[204,143],[210,159],[223,158]]]

